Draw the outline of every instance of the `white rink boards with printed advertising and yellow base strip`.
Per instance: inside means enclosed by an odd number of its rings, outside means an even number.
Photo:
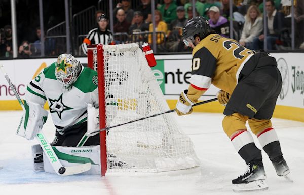
[[[274,117],[304,122],[304,53],[272,53],[278,62],[282,74],[282,90],[277,101]],[[191,76],[191,55],[157,55],[154,75],[165,95],[170,108],[174,108],[181,91],[188,88]],[[53,63],[56,58],[1,60],[6,72],[16,85],[21,98],[26,85],[43,68]],[[87,58],[80,57],[85,66]],[[119,74],[119,73],[118,73]],[[201,100],[214,97],[218,89],[212,86]],[[47,109],[48,106],[46,105]],[[222,112],[218,102],[211,102],[194,108],[197,112]],[[0,76],[0,110],[21,110],[12,89],[3,76]]]

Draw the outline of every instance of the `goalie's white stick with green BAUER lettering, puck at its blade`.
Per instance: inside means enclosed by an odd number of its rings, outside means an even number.
[[[2,65],[0,65],[0,69],[2,70],[2,72],[4,74],[4,77],[8,81],[8,83],[9,83],[10,87],[12,88],[18,102],[20,103],[22,109],[24,110],[24,104],[21,101],[21,98],[20,98],[18,92],[16,91],[16,88],[13,85],[10,77],[5,72],[4,67]],[[64,167],[60,163],[59,158],[57,157],[56,153],[54,152],[52,146],[48,142],[46,136],[44,135],[44,133],[42,132],[41,129],[39,130],[39,132],[37,133],[37,135],[35,137],[36,137],[37,141],[39,142],[40,146],[42,147],[44,153],[46,154],[48,160],[50,161],[50,164],[53,167],[54,171],[58,175],[62,175],[62,176],[74,175],[74,174],[83,173],[83,172],[88,171],[88,170],[91,169],[91,163],[86,163],[86,164],[83,164],[83,165],[72,166],[72,167]]]

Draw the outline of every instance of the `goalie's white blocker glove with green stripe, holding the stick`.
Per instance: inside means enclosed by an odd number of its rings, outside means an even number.
[[[24,110],[16,134],[28,140],[34,139],[47,121],[48,114],[41,105],[24,100]]]

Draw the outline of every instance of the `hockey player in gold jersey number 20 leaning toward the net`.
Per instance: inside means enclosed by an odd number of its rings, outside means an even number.
[[[290,173],[270,120],[282,85],[276,59],[269,53],[255,53],[233,39],[215,34],[201,16],[186,23],[182,36],[185,45],[193,49],[192,76],[188,90],[179,96],[177,114],[191,113],[192,105],[211,84],[221,89],[217,96],[226,105],[224,132],[248,167],[244,174],[232,180],[233,190],[268,189],[261,150],[245,124],[248,121],[278,176]]]

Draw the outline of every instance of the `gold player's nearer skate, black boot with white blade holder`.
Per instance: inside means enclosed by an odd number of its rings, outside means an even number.
[[[262,160],[254,160],[247,164],[247,171],[232,180],[234,192],[261,191],[268,189],[265,183],[266,174]]]

